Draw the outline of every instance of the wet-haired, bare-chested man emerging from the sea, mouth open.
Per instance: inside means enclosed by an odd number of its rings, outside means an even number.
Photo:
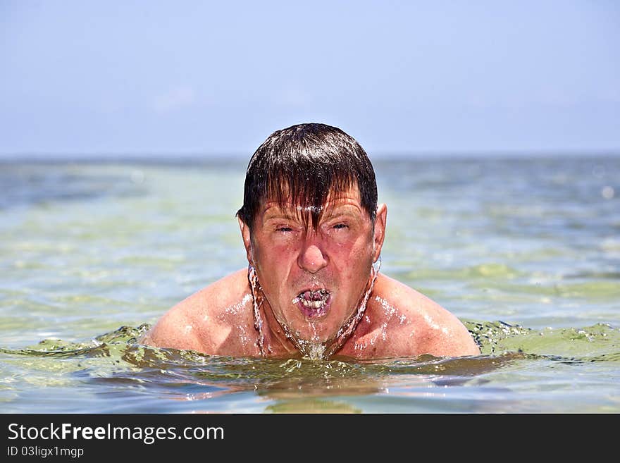
[[[248,357],[479,354],[454,315],[378,273],[386,216],[352,137],[315,123],[274,132],[237,212],[247,270],[175,305],[141,341]]]

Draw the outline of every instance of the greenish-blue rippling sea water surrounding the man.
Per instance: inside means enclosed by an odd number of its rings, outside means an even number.
[[[0,412],[620,412],[620,157],[373,159],[381,271],[482,354],[238,359],[137,344],[243,268],[247,159],[0,163]]]

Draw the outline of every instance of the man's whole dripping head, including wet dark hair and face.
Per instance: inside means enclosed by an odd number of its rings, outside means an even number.
[[[342,130],[293,125],[261,144],[237,216],[247,259],[286,331],[328,342],[351,318],[379,257],[386,214],[366,152]]]

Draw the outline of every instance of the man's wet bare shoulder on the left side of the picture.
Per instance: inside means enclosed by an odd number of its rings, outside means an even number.
[[[217,280],[182,300],[140,340],[206,354],[253,354],[254,320],[247,271]]]

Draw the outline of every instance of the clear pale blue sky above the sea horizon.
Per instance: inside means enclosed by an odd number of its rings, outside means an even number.
[[[620,152],[615,1],[0,0],[0,154]]]

